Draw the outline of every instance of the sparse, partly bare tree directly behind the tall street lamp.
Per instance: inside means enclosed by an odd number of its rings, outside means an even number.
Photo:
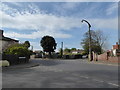
[[[101,54],[107,37],[104,36],[103,32],[91,30],[91,49],[92,51]],[[85,53],[89,53],[89,33],[84,34],[84,39],[81,42]]]

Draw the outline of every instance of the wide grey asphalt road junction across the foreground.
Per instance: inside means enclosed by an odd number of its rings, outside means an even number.
[[[118,66],[89,63],[85,59],[30,62],[39,65],[3,69],[3,88],[118,87]]]

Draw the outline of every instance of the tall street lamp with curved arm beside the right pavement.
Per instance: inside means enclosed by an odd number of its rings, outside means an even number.
[[[88,27],[89,27],[89,61],[92,61],[92,50],[91,50],[91,33],[90,33],[90,27],[91,27],[91,25],[90,25],[90,23],[88,22],[88,21],[86,21],[86,20],[82,20],[81,21],[82,23],[83,22],[86,22],[87,24],[88,24]]]

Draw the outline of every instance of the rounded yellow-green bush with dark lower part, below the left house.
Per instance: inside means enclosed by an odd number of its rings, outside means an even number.
[[[22,62],[28,62],[30,54],[31,51],[23,44],[15,44],[4,51],[3,59],[7,59],[10,64],[19,64]],[[25,57],[25,59],[20,59],[19,57]]]

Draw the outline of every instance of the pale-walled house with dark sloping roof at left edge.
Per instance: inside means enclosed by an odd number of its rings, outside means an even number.
[[[5,37],[3,35],[3,30],[0,30],[0,54],[2,53],[3,50],[5,50],[7,47],[10,45],[18,43],[18,40],[11,39],[8,37]]]

